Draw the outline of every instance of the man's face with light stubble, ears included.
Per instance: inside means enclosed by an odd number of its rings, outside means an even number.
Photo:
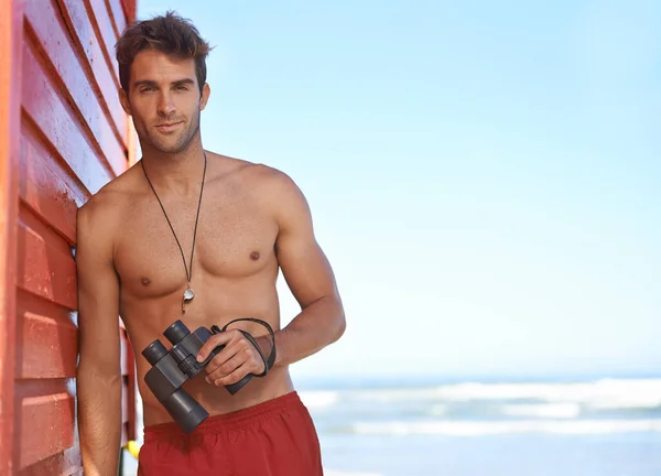
[[[133,117],[141,144],[166,153],[185,150],[199,130],[199,113],[209,96],[206,84],[199,94],[195,61],[158,50],[140,52],[131,65],[129,87],[120,100]]]

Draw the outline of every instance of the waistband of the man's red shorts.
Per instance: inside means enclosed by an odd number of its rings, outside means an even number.
[[[167,436],[189,436],[202,433],[220,433],[247,426],[260,419],[278,414],[288,408],[302,405],[296,391],[285,393],[262,403],[229,413],[210,415],[203,421],[191,434],[186,434],[175,422],[158,423],[144,428],[144,441]]]

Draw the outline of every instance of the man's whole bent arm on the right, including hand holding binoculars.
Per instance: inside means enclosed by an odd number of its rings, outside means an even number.
[[[337,340],[345,331],[345,314],[326,256],[316,242],[307,201],[285,174],[269,170],[267,185],[261,188],[278,221],[275,244],[282,274],[301,305],[302,312],[283,329],[275,332],[274,366],[286,366],[308,357]],[[269,355],[271,337],[256,338]],[[198,361],[207,358],[218,345],[225,348],[206,367],[207,381],[216,386],[238,382],[248,374],[264,369],[261,356],[237,329],[219,333],[199,349]]]

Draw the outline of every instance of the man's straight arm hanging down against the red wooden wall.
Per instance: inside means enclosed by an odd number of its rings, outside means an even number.
[[[78,212],[79,361],[76,387],[80,453],[86,476],[116,475],[119,467],[119,282],[107,224],[107,217],[99,216],[98,203],[88,203]]]

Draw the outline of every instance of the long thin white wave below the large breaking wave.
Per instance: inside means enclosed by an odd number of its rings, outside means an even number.
[[[571,421],[390,421],[355,423],[350,425],[348,430],[354,434],[384,436],[480,436],[516,433],[608,434],[661,432],[661,419]]]

